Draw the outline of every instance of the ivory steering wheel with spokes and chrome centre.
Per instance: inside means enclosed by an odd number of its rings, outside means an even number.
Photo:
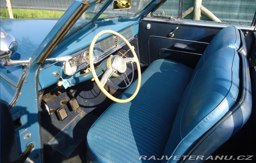
[[[98,37],[100,37],[103,34],[113,34],[113,35],[120,37],[128,45],[128,47],[132,51],[132,54],[134,57],[133,58],[122,58],[121,56],[118,56],[118,55],[109,57],[107,59],[107,70],[104,72],[104,74],[101,78],[101,81],[100,81],[98,79],[98,76],[97,76],[95,68],[94,68],[93,49],[94,49],[96,40],[98,39]],[[103,31],[99,32],[91,42],[90,50],[89,50],[89,62],[90,62],[92,76],[94,77],[96,84],[98,85],[100,90],[111,100],[113,100],[117,103],[127,103],[127,102],[131,101],[132,99],[134,99],[135,96],[138,94],[139,89],[140,89],[140,83],[141,83],[141,71],[140,71],[139,60],[134,51],[134,46],[130,45],[130,43],[126,40],[126,38],[124,38],[121,34],[117,33],[116,31],[112,31],[112,30],[103,30]],[[126,64],[130,63],[130,62],[134,62],[137,65],[137,70],[138,70],[137,88],[135,89],[135,92],[133,93],[133,95],[127,99],[115,98],[110,93],[108,93],[106,91],[104,86],[105,86],[107,80],[109,80],[109,78],[111,76],[118,77],[118,76],[121,76],[122,74],[124,74],[126,72],[126,68],[127,68]]]

